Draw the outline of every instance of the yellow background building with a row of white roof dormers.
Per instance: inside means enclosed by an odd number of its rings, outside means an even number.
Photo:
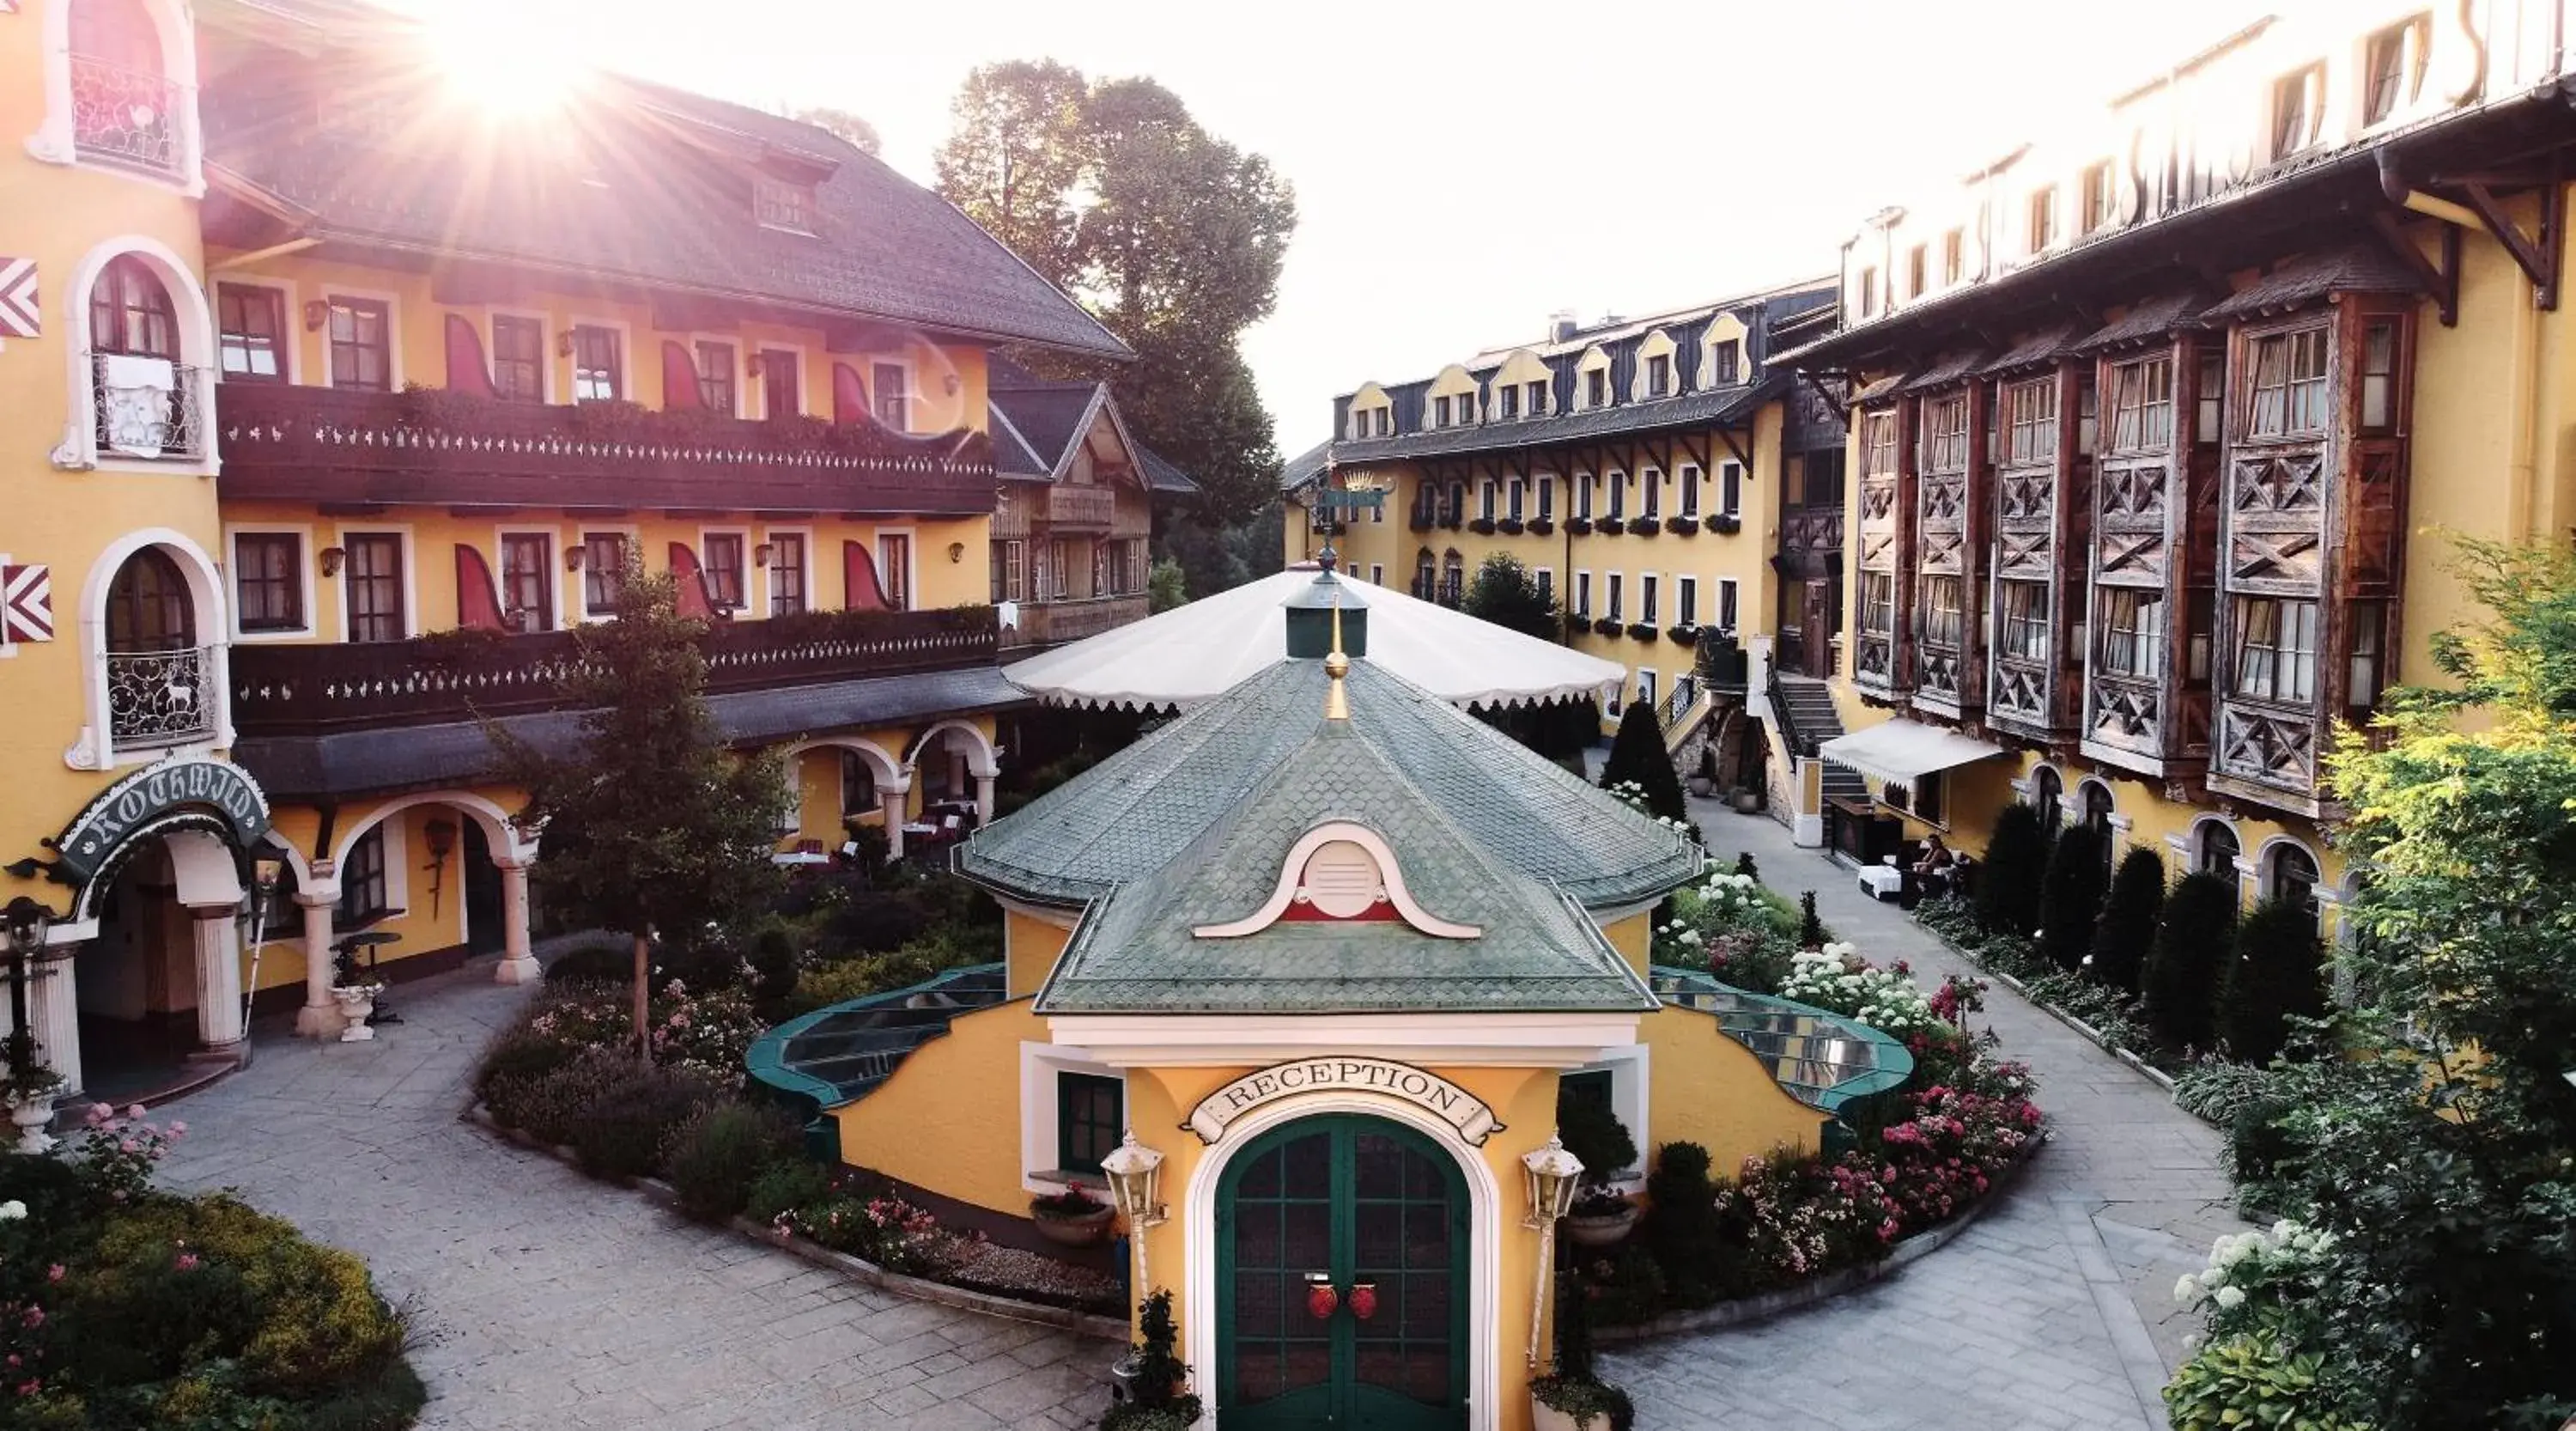
[[[1744,696],[1762,663],[1829,670],[1842,544],[1842,423],[1770,356],[1832,304],[1816,281],[1589,327],[1558,315],[1538,343],[1363,384],[1285,469],[1303,511],[1285,557],[1332,541],[1352,578],[1458,606],[1512,554],[1566,642],[1628,670],[1607,722],[1654,704],[1677,750],[1705,737],[1723,786],[1762,789]],[[1708,673],[1703,632],[1731,642]]]

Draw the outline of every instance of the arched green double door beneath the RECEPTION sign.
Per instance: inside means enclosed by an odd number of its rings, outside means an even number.
[[[1463,1428],[1466,1279],[1466,1178],[1432,1140],[1345,1114],[1255,1137],[1216,1186],[1221,1431]]]

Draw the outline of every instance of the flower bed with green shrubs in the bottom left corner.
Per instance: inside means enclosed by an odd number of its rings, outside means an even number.
[[[155,1191],[183,1132],[93,1106],[72,1150],[0,1155],[0,1426],[412,1426],[428,1392],[366,1263]]]

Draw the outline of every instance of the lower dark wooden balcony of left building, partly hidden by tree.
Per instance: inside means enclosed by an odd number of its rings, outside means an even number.
[[[755,691],[992,665],[994,637],[992,606],[726,621],[703,637],[706,688]],[[322,735],[562,709],[562,683],[577,663],[574,632],[234,645],[232,725],[242,737]]]

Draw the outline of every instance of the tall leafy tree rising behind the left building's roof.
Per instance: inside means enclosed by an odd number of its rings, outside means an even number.
[[[1278,500],[1278,449],[1239,338],[1270,315],[1296,196],[1260,155],[1208,134],[1154,80],[1087,80],[1054,59],[966,77],[938,152],[940,193],[1087,304],[1136,361],[1110,376],[1136,441],[1203,487],[1203,521]],[[1033,356],[1064,376],[1066,364]],[[1206,583],[1193,567],[1193,590]],[[1273,534],[1265,560],[1275,565]]]

